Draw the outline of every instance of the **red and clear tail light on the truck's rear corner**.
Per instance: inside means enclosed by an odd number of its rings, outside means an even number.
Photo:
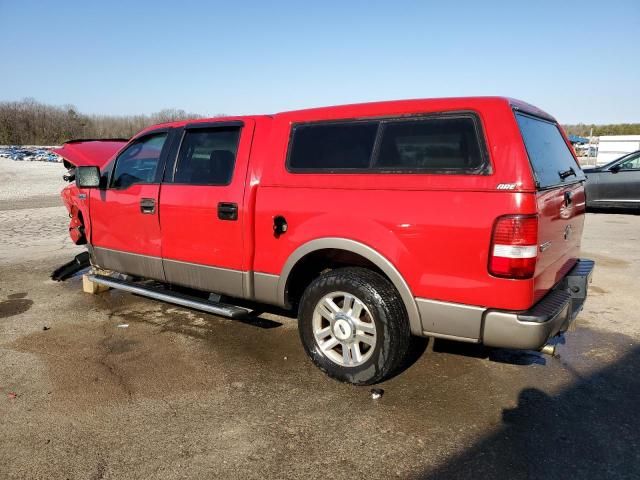
[[[489,273],[496,277],[531,278],[538,257],[538,217],[505,215],[493,226]]]

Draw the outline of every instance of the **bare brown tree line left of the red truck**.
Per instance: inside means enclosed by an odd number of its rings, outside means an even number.
[[[130,138],[149,125],[201,117],[175,108],[151,115],[86,115],[73,105],[46,105],[26,98],[0,102],[0,145],[60,145],[78,138]]]

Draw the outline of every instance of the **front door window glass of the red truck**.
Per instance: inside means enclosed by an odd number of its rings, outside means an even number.
[[[136,183],[153,183],[166,139],[166,133],[159,133],[129,145],[116,159],[111,186],[127,188]]]

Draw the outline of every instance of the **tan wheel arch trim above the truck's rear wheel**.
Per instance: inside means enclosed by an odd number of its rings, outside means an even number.
[[[368,262],[371,262],[377,269],[379,269],[396,288],[405,309],[407,310],[407,316],[409,318],[409,325],[411,327],[411,333],[414,335],[422,335],[422,323],[420,320],[420,313],[416,304],[415,298],[409,285],[405,281],[404,277],[400,274],[398,269],[380,252],[355,240],[339,237],[326,237],[311,240],[301,246],[299,246],[289,256],[282,268],[280,277],[278,279],[277,296],[278,302],[281,305],[288,305],[289,299],[287,298],[287,291],[289,286],[289,280],[291,273],[295,267],[303,262],[309,255],[320,250],[342,250],[345,252],[358,255]]]

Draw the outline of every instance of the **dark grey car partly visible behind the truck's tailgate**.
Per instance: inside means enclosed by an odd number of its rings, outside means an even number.
[[[640,150],[584,173],[588,208],[640,210]]]

